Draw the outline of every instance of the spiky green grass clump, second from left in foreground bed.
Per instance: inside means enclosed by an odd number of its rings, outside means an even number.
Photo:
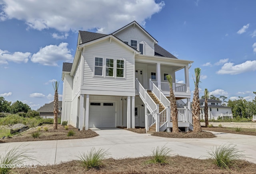
[[[86,169],[95,168],[99,169],[102,166],[104,166],[102,160],[108,156],[108,152],[104,149],[99,149],[98,151],[95,150],[93,147],[87,154],[82,152],[80,153],[80,156],[78,158],[80,159],[80,162],[82,163],[82,166]]]

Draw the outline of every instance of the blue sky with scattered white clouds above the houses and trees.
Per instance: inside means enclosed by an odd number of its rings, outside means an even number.
[[[194,61],[191,90],[200,67],[202,91],[252,101],[255,9],[255,0],[0,0],[0,96],[38,109],[53,101],[57,80],[62,100],[62,63],[73,60],[78,30],[109,34],[136,20],[161,47]]]

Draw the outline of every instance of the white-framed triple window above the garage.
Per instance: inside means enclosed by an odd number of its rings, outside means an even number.
[[[94,76],[125,77],[125,59],[95,57]]]

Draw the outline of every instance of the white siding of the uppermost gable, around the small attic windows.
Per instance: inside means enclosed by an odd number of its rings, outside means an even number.
[[[131,45],[131,40],[137,41],[137,50],[139,51],[139,43],[144,44],[144,55],[154,55],[154,41],[144,33],[139,27],[131,25],[130,27],[115,34],[122,41],[128,41]]]

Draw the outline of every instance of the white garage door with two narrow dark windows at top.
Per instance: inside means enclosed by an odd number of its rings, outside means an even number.
[[[115,127],[114,102],[90,102],[89,127]]]

